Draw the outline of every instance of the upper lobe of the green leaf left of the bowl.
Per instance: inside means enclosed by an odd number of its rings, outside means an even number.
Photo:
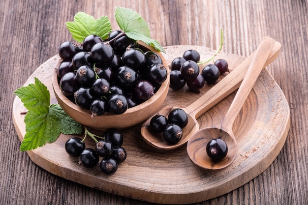
[[[18,88],[14,94],[21,99],[27,110],[31,110],[32,107],[48,108],[50,104],[50,93],[37,78],[34,78],[34,84]]]

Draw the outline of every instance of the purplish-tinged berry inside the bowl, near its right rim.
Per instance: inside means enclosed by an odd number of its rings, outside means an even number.
[[[146,101],[154,95],[154,87],[149,81],[141,80],[136,84],[133,94],[137,100]]]

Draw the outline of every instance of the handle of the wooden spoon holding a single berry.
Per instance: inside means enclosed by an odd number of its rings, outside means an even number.
[[[241,111],[252,87],[258,79],[260,72],[266,63],[266,59],[270,55],[274,43],[275,41],[269,37],[264,37],[262,39],[247,69],[244,80],[238,89],[227,114],[221,122],[222,127],[229,127],[232,129],[232,124]]]

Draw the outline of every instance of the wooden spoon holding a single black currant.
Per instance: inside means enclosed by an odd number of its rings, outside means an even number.
[[[232,132],[232,125],[264,67],[274,43],[275,41],[270,38],[265,37],[262,39],[248,67],[245,78],[221,122],[214,126],[200,129],[189,138],[187,153],[195,165],[206,170],[220,170],[229,166],[236,158],[238,147]],[[206,146],[212,139],[221,139],[228,146],[227,156],[221,161],[213,161],[207,154]]]

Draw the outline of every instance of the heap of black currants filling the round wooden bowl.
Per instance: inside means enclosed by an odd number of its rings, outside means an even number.
[[[123,114],[150,99],[167,78],[160,56],[141,49],[136,40],[114,30],[108,39],[87,36],[82,44],[60,45],[60,88],[92,117]]]

